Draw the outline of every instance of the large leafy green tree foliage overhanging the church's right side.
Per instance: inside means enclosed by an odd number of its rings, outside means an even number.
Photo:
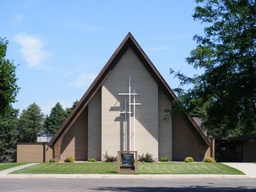
[[[180,86],[172,110],[191,112],[208,102],[204,126],[255,136],[256,131],[256,3],[254,0],[196,0],[194,20],[206,23],[205,36],[195,35],[197,46],[186,59],[205,72],[194,77],[177,72]],[[172,69],[171,73],[174,71]],[[193,88],[183,90],[191,84]]]

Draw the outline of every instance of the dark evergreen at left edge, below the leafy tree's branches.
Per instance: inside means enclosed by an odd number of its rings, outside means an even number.
[[[16,150],[18,114],[19,109],[14,109],[10,104],[5,115],[0,115],[0,156],[6,150]]]

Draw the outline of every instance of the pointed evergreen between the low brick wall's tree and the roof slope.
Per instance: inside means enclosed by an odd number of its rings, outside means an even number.
[[[54,135],[66,120],[66,112],[61,104],[57,102],[51,109],[50,115],[45,118],[45,133],[47,135]]]

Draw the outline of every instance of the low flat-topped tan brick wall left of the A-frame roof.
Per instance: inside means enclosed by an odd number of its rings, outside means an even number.
[[[43,162],[43,154],[43,143],[17,145],[17,162]]]

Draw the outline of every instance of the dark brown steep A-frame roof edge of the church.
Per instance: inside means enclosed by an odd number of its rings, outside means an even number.
[[[51,139],[49,143],[50,147],[54,147],[54,144],[63,135],[63,133],[65,134],[73,125],[74,121],[77,120],[79,115],[83,112],[84,108],[88,105],[91,98],[96,94],[97,90],[101,87],[104,80],[106,80],[108,75],[112,72],[113,68],[117,65],[118,61],[121,59],[121,57],[124,55],[125,51],[129,47],[143,63],[144,67],[146,67],[147,71],[152,75],[155,82],[158,83],[158,86],[162,89],[162,91],[164,91],[167,98],[170,101],[176,100],[177,97],[171,90],[170,86],[165,82],[164,78],[162,78],[162,75],[158,72],[153,63],[149,60],[148,56],[141,49],[141,46],[139,46],[135,38],[133,38],[132,34],[129,32],[123,42],[118,46],[117,50],[115,50],[114,54],[110,57],[101,72],[97,75],[96,79],[91,84],[89,89],[85,92],[84,96],[78,102],[77,106],[75,106],[71,114],[69,114],[68,118],[64,121],[60,129]],[[211,143],[208,141],[206,136],[203,135],[201,129],[196,125],[195,121],[190,117],[189,114],[185,114],[185,121],[186,123],[190,124],[190,129],[191,127],[193,127],[194,130],[200,133],[207,145],[211,146]]]

